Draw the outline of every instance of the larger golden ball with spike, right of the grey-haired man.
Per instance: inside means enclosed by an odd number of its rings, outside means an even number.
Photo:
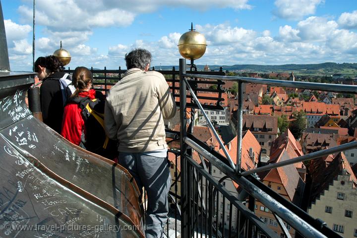
[[[190,31],[181,35],[179,39],[179,53],[187,60],[197,60],[206,52],[206,38],[203,34],[195,31],[191,23]]]

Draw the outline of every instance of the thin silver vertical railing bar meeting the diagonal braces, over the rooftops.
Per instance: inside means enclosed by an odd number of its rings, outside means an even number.
[[[242,146],[242,127],[243,127],[243,84],[238,82],[238,116],[237,116],[237,166],[236,172],[241,169],[241,146]]]

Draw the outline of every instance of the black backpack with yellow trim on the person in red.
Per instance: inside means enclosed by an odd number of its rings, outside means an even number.
[[[85,139],[82,144],[87,151],[108,159],[114,159],[118,154],[117,141],[109,139],[104,130],[105,100],[89,97],[74,97],[71,101],[79,104],[86,128]]]

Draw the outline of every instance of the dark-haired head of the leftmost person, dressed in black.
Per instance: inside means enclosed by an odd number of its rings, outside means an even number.
[[[54,56],[39,57],[35,61],[35,72],[40,80],[49,77],[55,72],[63,71],[63,64],[60,60]]]

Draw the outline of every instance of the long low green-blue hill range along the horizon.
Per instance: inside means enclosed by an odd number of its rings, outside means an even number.
[[[161,66],[162,70],[171,70],[173,66]],[[332,63],[326,62],[322,64],[308,64],[308,65],[209,65],[210,70],[218,71],[220,67],[224,71],[247,71],[247,72],[291,72],[300,73],[300,74],[335,74],[342,73],[344,75],[357,75],[357,63]],[[178,69],[178,66],[175,66]],[[197,65],[198,70],[203,70],[204,65]],[[155,66],[155,69],[159,69],[158,66]]]

